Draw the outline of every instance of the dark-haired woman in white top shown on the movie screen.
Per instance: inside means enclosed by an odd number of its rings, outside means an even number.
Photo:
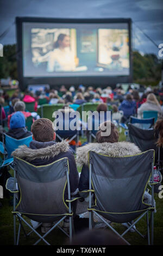
[[[75,68],[74,54],[70,51],[70,36],[59,34],[54,50],[49,54],[47,71],[73,71]]]

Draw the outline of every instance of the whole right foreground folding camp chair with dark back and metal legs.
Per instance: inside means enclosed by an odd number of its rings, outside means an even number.
[[[153,244],[155,209],[153,165],[154,150],[126,157],[109,157],[90,151],[89,229],[92,229],[93,214],[95,214],[122,238],[146,215],[148,245]],[[152,204],[149,205],[144,202],[143,196],[151,175]],[[95,204],[91,200],[92,192],[95,193]],[[151,211],[151,237],[149,234],[149,211]],[[130,227],[120,235],[104,218],[114,223],[129,223]],[[130,224],[131,221],[134,222]],[[136,228],[134,229],[144,237]]]

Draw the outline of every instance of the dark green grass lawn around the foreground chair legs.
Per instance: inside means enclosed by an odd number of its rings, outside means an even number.
[[[124,136],[124,131],[120,135],[120,141],[126,140]],[[81,139],[82,143],[85,139]],[[80,169],[78,168],[80,172]],[[156,214],[154,214],[154,245],[163,245],[163,199],[159,199],[158,194],[154,194],[154,198],[156,201]],[[13,245],[14,244],[14,231],[13,231],[13,216],[12,216],[12,206],[10,206],[10,199],[4,198],[1,199],[1,203],[3,204],[2,208],[0,208],[0,245]],[[28,218],[26,218],[28,220]],[[126,230],[121,224],[113,224],[116,227],[116,230],[121,234]],[[25,229],[28,231],[29,228],[24,225]],[[18,225],[17,225],[18,228]],[[138,224],[136,224],[136,228],[142,233],[146,234],[146,217],[144,216]],[[30,230],[29,230],[30,231]],[[39,231],[39,229],[38,229]],[[40,230],[41,231],[41,230]],[[148,241],[145,238],[142,238],[137,233],[128,233],[124,236],[125,239],[131,245],[148,245]],[[37,237],[35,234],[31,234],[28,239],[24,237],[23,232],[21,233],[20,245],[32,245],[36,241]],[[52,245],[65,245],[67,241],[67,237],[64,233],[62,233],[58,228],[54,229],[51,234],[47,236],[47,240]],[[45,245],[44,242],[40,242],[39,245]]]

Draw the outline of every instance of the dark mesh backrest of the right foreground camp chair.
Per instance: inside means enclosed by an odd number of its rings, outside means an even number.
[[[154,150],[127,157],[109,157],[90,151],[97,208],[112,213],[140,210],[153,155]]]

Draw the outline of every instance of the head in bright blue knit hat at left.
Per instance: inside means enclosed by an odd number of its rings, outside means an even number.
[[[26,119],[22,112],[17,111],[11,116],[10,129],[12,130],[12,129],[22,128],[22,127],[26,127]]]

